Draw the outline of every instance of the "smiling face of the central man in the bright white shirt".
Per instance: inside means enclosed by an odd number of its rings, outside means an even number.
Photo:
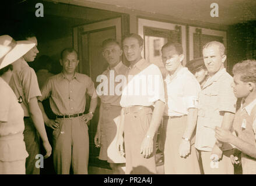
[[[122,42],[124,55],[129,62],[137,62],[141,59],[141,51],[143,47],[139,46],[139,41],[136,38],[128,37]]]

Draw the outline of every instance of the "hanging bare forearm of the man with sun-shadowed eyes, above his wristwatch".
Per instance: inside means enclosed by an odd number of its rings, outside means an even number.
[[[188,109],[187,124],[186,124],[185,131],[183,133],[184,138],[188,138],[188,139],[191,138],[195,130],[195,126],[197,125],[197,113],[198,113],[198,109],[196,108]]]

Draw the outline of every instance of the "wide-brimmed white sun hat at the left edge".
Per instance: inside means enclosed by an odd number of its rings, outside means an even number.
[[[31,41],[15,41],[9,35],[0,35],[0,69],[21,58],[34,45]]]

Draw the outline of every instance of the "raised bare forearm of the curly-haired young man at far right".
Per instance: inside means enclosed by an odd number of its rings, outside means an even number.
[[[256,146],[251,145],[236,136],[233,136],[233,138],[230,140],[230,144],[233,144],[239,148],[241,152],[251,156],[252,158],[256,158]]]

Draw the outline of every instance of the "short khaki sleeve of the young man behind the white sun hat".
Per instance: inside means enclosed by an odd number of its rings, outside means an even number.
[[[37,82],[37,76],[33,69],[30,67],[25,68],[20,76],[27,103],[29,103],[31,98],[41,96],[40,88]]]

